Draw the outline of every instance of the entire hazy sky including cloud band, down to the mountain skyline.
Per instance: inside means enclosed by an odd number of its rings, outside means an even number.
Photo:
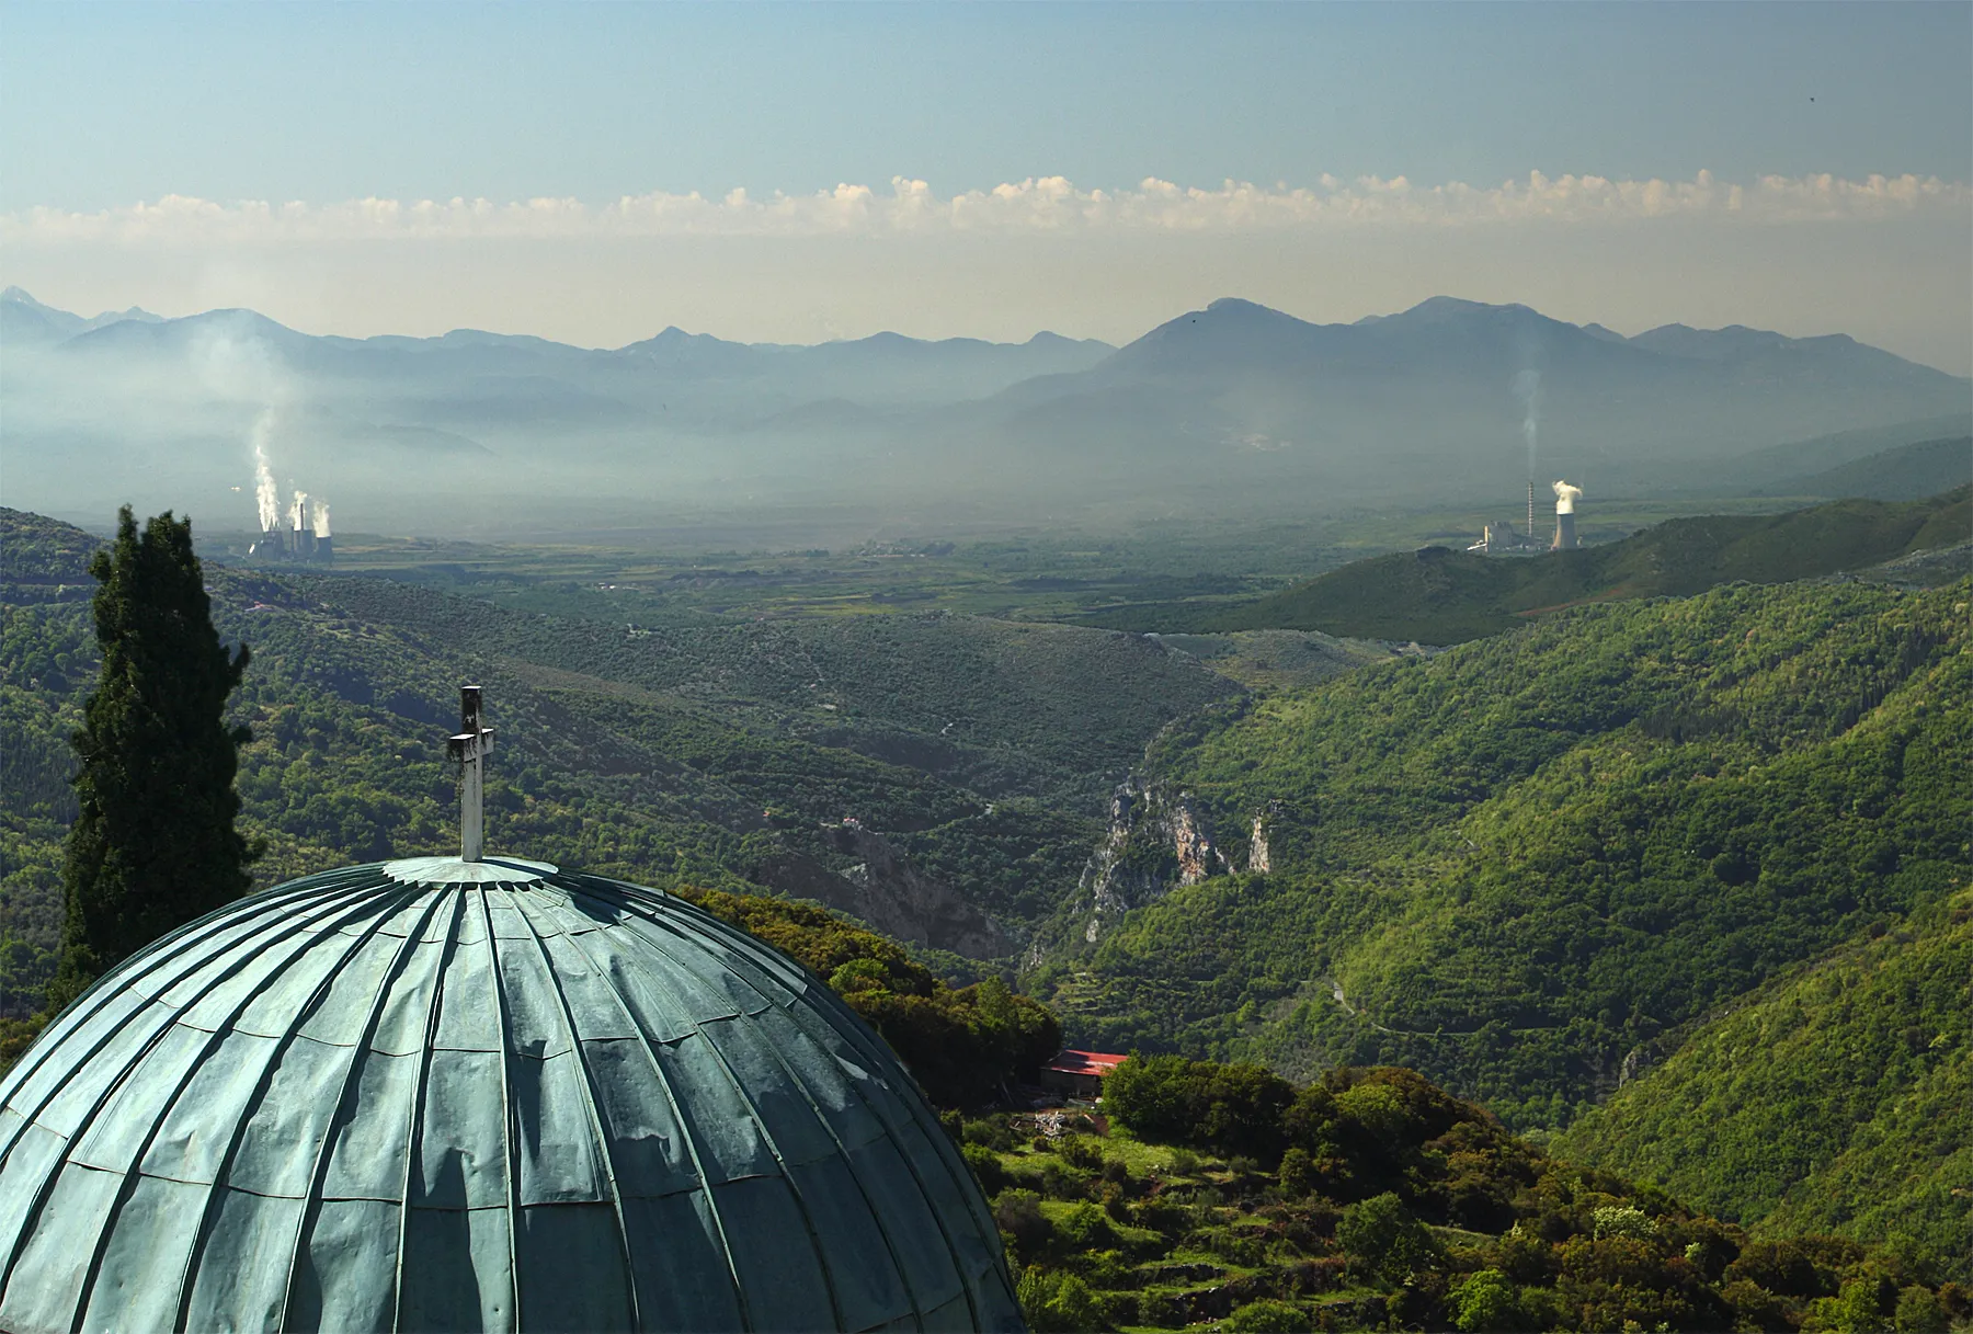
[[[1963,373],[1969,67],[1967,4],[14,2],[0,278],[582,343],[1454,292]]]

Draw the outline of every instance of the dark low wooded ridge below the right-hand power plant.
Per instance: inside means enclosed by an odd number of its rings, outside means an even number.
[[[1582,602],[1784,582],[1951,547],[1973,535],[1973,487],[1930,499],[1845,499],[1780,515],[1669,519],[1620,543],[1531,558],[1448,547],[1373,556],[1245,604],[1170,604],[1083,618],[1156,631],[1322,630],[1460,643]]]

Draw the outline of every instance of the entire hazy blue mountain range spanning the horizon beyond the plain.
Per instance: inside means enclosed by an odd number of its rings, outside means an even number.
[[[1229,298],[1125,347],[1054,334],[767,345],[667,328],[582,349],[475,330],[316,337],[251,310],[85,320],[8,288],[0,345],[8,503],[144,497],[237,509],[239,527],[251,513],[229,495],[253,493],[256,422],[282,487],[326,491],[343,513],[450,521],[430,497],[456,493],[474,460],[481,521],[566,527],[655,507],[939,523],[1505,497],[1529,468],[1529,418],[1537,480],[1707,485],[1760,448],[1973,408],[1969,381],[1843,335],[1624,337],[1454,298],[1355,324]]]

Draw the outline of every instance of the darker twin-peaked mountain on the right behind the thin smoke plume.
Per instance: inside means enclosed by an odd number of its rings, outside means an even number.
[[[1527,468],[1529,401],[1537,482],[1572,470],[1608,489],[1833,426],[1965,412],[1973,395],[1843,335],[1665,326],[1620,337],[1442,296],[1326,326],[1219,300],[1087,371],[1000,395],[1044,448],[1087,448],[1093,428],[1117,422],[1140,448],[1312,458],[1330,483],[1371,491],[1393,474],[1419,487],[1492,478],[1511,491]]]

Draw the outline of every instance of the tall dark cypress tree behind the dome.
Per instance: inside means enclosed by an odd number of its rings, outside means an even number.
[[[89,572],[101,582],[103,677],[71,738],[81,811],[61,866],[67,918],[49,1008],[251,884],[253,854],[233,825],[249,732],[225,724],[247,645],[219,643],[191,521],[166,511],[138,535],[124,505],[116,541]]]

